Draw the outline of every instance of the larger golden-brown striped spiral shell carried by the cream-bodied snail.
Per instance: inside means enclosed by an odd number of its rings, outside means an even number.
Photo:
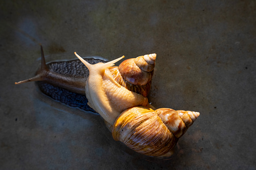
[[[199,115],[199,112],[169,108],[132,107],[116,119],[112,136],[141,154],[168,156],[178,138]]]

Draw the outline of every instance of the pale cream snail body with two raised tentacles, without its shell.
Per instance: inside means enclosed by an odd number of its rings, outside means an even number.
[[[94,65],[89,64],[79,55],[76,54],[76,56],[90,72],[85,86],[88,105],[98,112],[105,121],[113,125],[123,110],[133,106],[149,106],[147,97],[127,90],[113,79],[108,68],[124,56],[108,63]]]

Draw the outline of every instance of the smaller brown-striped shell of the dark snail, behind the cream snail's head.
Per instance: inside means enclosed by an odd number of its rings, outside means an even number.
[[[114,80],[126,89],[148,96],[154,73],[156,54],[124,60],[118,67],[110,67]]]

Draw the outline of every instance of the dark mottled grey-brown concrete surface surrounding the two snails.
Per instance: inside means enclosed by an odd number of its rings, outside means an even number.
[[[255,1],[2,0],[0,15],[0,169],[256,169]],[[168,160],[140,156],[100,116],[14,85],[39,43],[47,61],[156,53],[149,100],[201,115]]]

